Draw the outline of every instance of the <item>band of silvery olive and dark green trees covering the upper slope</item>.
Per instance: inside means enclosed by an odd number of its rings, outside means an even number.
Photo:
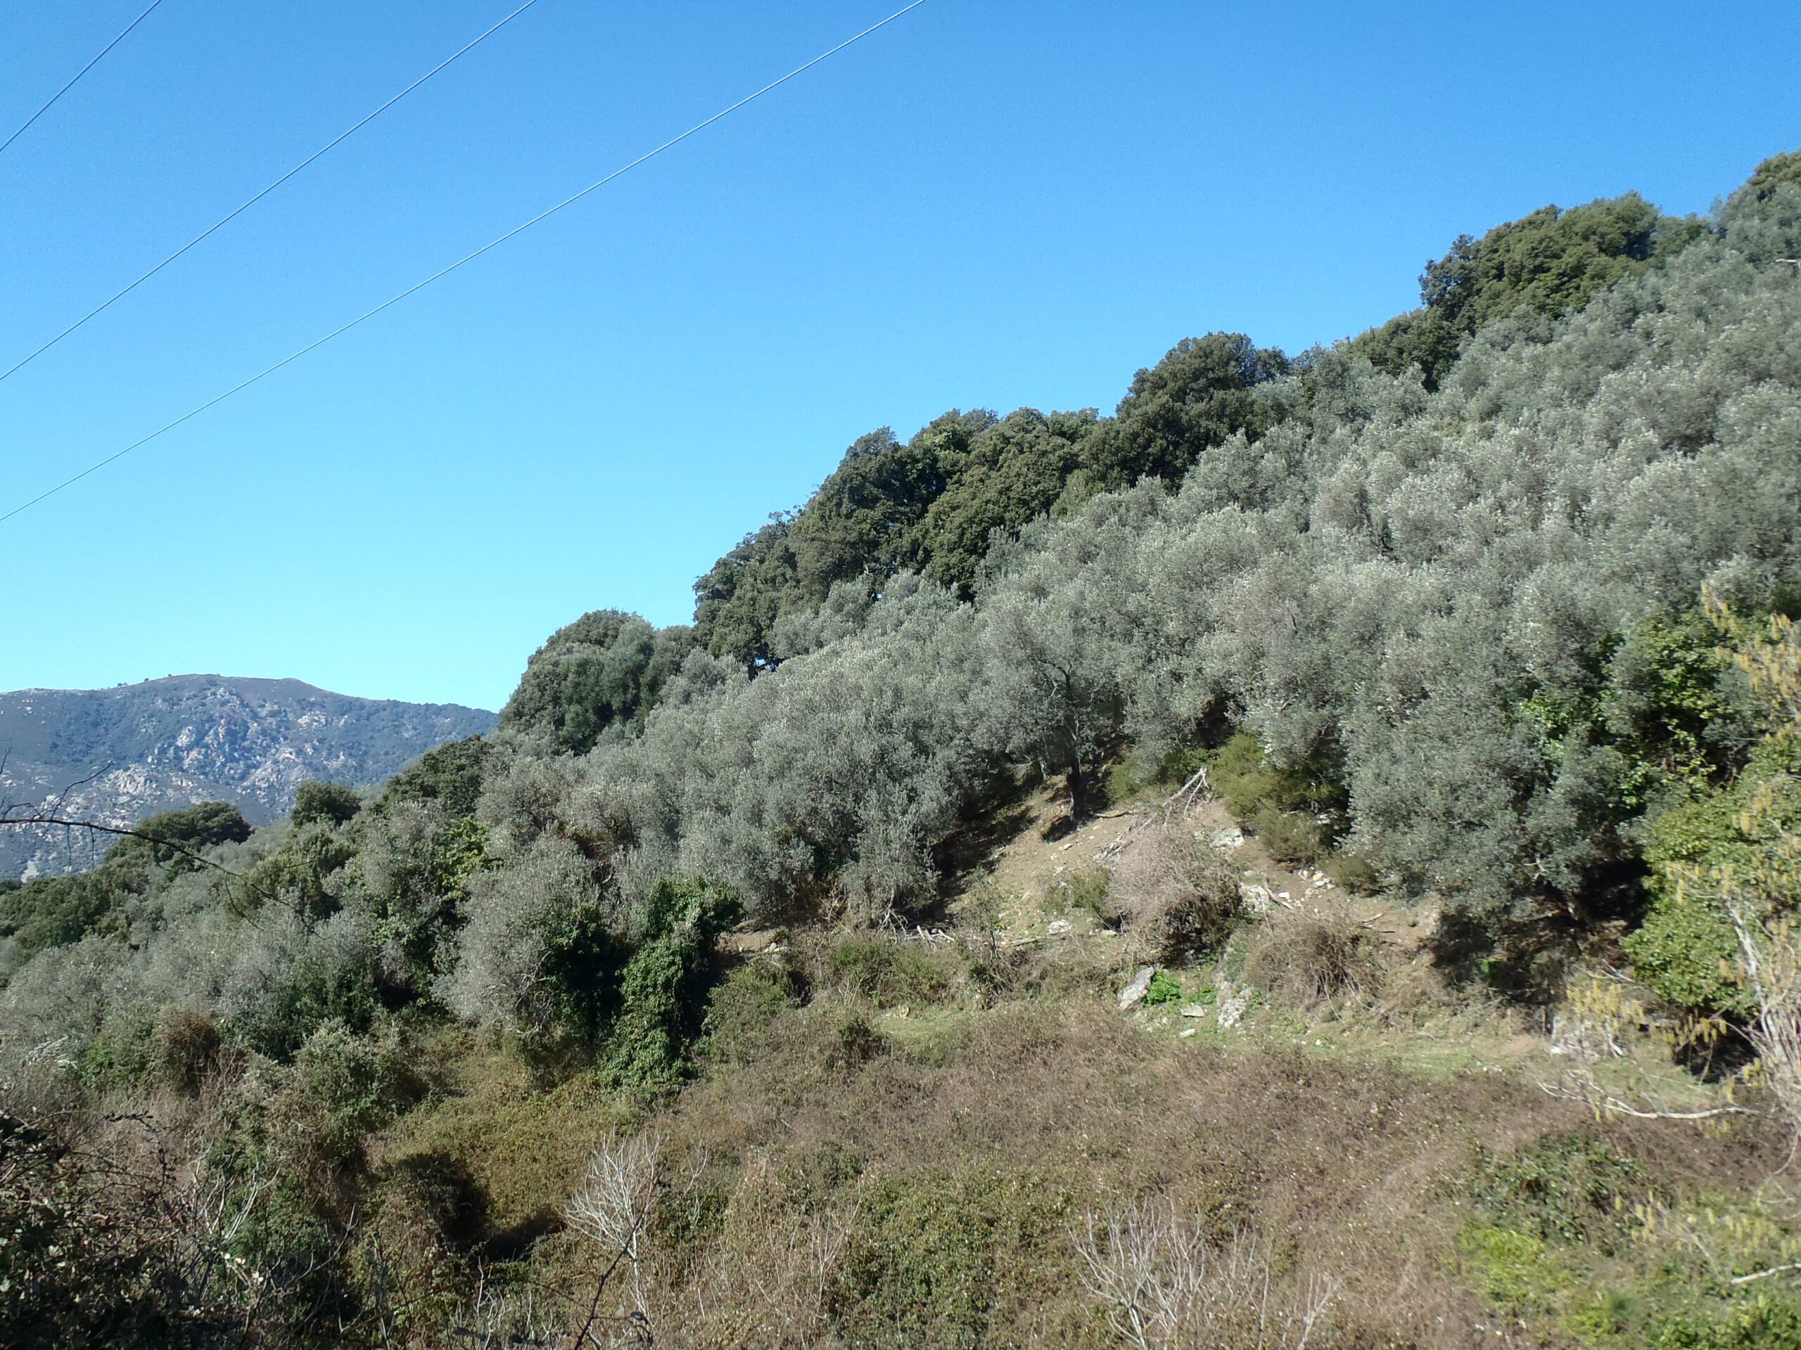
[[[1434,329],[1434,362],[1461,355],[1430,382],[1405,344],[1378,369],[1367,342],[1288,360],[1216,335],[1115,418],[864,437],[702,580],[692,634],[589,616],[490,740],[355,817],[216,850],[267,893],[151,869],[104,932],[23,959],[5,1053],[164,1006],[274,1057],[421,999],[555,1030],[558,979],[623,970],[668,878],[756,922],[908,916],[1021,769],[1079,794],[1122,745],[1223,727],[1327,765],[1389,884],[1477,916],[1579,896],[1657,805],[1590,715],[1623,643],[1704,583],[1754,610],[1801,578],[1794,178],[1653,221],[1668,247],[1603,259],[1579,308]],[[1459,257],[1444,295],[1486,275]],[[1021,486],[983,497],[987,472]]]

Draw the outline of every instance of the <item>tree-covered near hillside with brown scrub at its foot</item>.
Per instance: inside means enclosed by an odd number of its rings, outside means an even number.
[[[0,896],[0,1341],[1801,1346],[1797,257],[1783,155],[875,430]]]

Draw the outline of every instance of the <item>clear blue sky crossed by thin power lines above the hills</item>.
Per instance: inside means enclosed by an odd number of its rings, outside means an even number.
[[[0,11],[0,135],[144,0]],[[0,509],[897,7],[540,0],[0,383]],[[0,155],[0,365],[511,0],[166,0]],[[1300,349],[1459,232],[1801,146],[1801,7],[929,0],[0,526],[0,688],[171,671],[497,707],[657,623],[861,432]]]

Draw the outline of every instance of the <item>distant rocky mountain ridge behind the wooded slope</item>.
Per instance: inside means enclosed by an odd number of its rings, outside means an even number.
[[[477,707],[355,698],[303,680],[171,675],[113,689],[18,689],[0,693],[0,803],[61,799],[59,815],[124,826],[218,799],[263,824],[285,815],[310,778],[378,783],[493,724]],[[79,871],[103,850],[83,832],[0,830],[0,877]]]

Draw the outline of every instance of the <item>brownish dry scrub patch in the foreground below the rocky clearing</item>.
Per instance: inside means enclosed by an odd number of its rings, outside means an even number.
[[[857,1345],[1113,1345],[1072,1233],[1154,1193],[1210,1251],[1266,1235],[1259,1307],[1290,1330],[1329,1274],[1309,1345],[1470,1345],[1486,1312],[1446,1273],[1446,1186],[1475,1145],[1579,1123],[1507,1078],[1205,1051],[1086,1003],[964,1013],[935,1046],[854,1067],[832,1053],[839,1017],[791,1013],[767,1060],[656,1121],[731,1179],[704,1222],[657,1238],[659,1343],[821,1345],[832,1327]],[[738,1341],[710,1339],[722,1303]]]

